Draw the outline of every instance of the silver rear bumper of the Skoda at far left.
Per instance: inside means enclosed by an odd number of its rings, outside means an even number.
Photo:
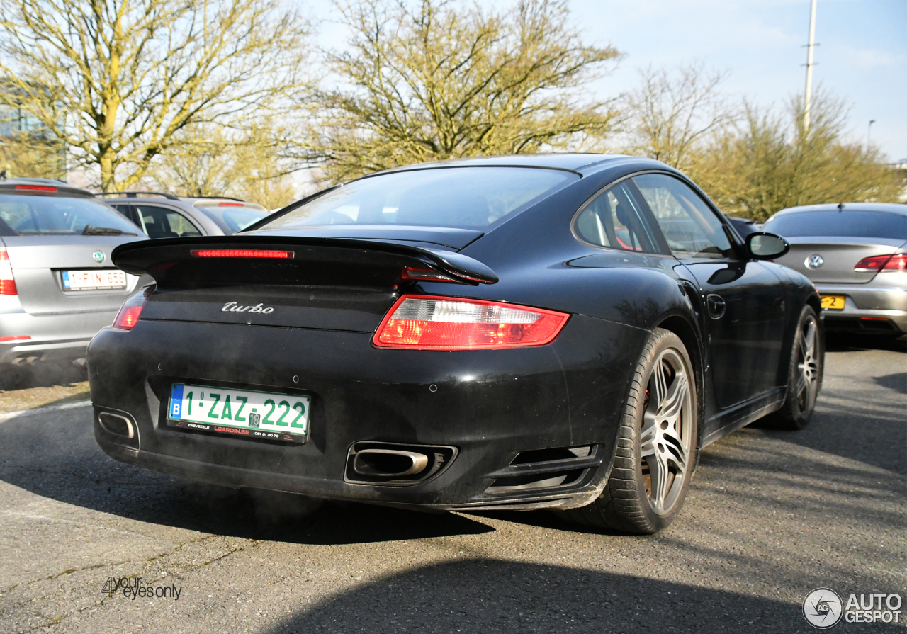
[[[110,326],[116,310],[34,316],[25,312],[0,314],[0,337],[30,337],[0,343],[0,365],[27,361],[71,360],[102,328]]]

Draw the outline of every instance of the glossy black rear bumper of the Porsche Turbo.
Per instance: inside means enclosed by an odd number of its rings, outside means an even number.
[[[452,353],[381,350],[369,333],[141,320],[131,332],[102,330],[89,347],[95,437],[122,462],[227,486],[437,510],[571,508],[597,497],[607,479],[629,374],[648,335],[574,316],[549,346]],[[168,427],[176,380],[304,392],[309,440]],[[103,412],[131,418],[136,437],[105,431]],[[350,448],[363,441],[457,453],[424,483],[347,482]],[[591,447],[588,456],[512,465],[521,452],[580,445]]]

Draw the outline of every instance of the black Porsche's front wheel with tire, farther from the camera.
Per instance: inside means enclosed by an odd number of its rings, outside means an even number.
[[[819,317],[813,307],[805,306],[797,322],[794,346],[787,372],[785,403],[770,415],[768,422],[777,429],[803,429],[813,415],[815,399],[822,387],[825,346]]]

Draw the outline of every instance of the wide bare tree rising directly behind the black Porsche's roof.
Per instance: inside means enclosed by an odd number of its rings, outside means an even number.
[[[561,147],[607,132],[608,102],[582,88],[618,52],[583,44],[565,2],[506,11],[443,0],[338,5],[348,50],[327,55],[308,156],[331,180],[419,161]]]

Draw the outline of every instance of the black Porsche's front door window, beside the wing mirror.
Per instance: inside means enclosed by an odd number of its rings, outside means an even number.
[[[671,252],[681,258],[731,258],[721,220],[683,181],[666,174],[634,176]]]

